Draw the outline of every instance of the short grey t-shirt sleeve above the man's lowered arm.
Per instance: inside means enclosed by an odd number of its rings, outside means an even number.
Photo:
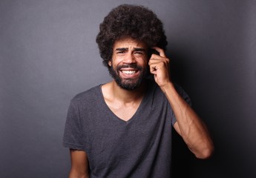
[[[66,148],[84,150],[81,136],[81,125],[79,122],[79,112],[72,101],[68,108],[62,144]]]

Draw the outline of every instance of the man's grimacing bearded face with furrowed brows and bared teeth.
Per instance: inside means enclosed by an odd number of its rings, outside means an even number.
[[[139,88],[148,76],[148,47],[144,42],[125,38],[114,42],[109,73],[125,90]]]

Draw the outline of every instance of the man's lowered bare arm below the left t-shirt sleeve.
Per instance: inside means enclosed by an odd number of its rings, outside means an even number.
[[[85,151],[70,149],[71,169],[69,178],[89,178],[89,163]]]

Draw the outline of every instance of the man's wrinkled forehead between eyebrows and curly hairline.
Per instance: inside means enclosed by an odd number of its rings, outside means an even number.
[[[117,47],[125,47],[125,48],[134,48],[134,47],[140,47],[140,48],[146,48],[147,45],[145,42],[141,42],[136,39],[131,38],[123,38],[118,39],[116,42],[114,42],[113,48],[116,49]]]

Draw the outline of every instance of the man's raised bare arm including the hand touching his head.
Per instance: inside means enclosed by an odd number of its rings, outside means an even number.
[[[160,56],[153,54],[148,65],[157,85],[165,93],[174,111],[177,119],[174,129],[183,137],[184,142],[197,158],[206,159],[214,151],[206,125],[175,90],[169,76],[169,59],[165,57],[164,51],[159,47],[154,49],[160,53]]]

